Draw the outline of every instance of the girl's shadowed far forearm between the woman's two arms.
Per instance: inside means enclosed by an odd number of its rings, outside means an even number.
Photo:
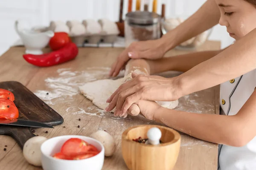
[[[201,51],[190,54],[177,55],[156,60],[147,60],[150,66],[150,73],[160,73],[164,71],[186,72],[201,62],[206,61],[219,54],[222,50]]]

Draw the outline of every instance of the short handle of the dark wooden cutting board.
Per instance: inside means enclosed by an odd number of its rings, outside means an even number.
[[[17,130],[12,130],[9,134],[19,144],[20,148],[23,149],[24,144],[27,140],[34,137],[35,134],[31,132],[29,127],[18,127]]]

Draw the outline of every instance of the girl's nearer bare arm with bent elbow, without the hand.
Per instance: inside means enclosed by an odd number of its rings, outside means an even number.
[[[233,116],[160,108],[154,120],[205,141],[241,147],[256,136],[256,91]]]

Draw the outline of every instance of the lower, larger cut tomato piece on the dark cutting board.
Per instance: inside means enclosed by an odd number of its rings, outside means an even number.
[[[17,119],[19,111],[14,102],[8,99],[0,99],[0,119]]]

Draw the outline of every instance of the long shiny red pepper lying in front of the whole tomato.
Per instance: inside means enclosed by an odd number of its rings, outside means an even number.
[[[74,59],[76,58],[77,54],[78,48],[76,44],[70,42],[57,51],[52,51],[41,55],[24,54],[23,58],[32,65],[39,67],[49,67]]]

